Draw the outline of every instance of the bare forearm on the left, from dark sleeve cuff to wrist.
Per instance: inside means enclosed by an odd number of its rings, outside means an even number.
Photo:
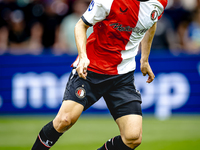
[[[88,29],[88,26],[85,25],[85,23],[80,19],[74,29],[75,34],[75,40],[76,40],[76,46],[78,49],[79,58],[85,58],[87,57],[86,54],[86,41],[87,41],[87,35],[86,31]]]

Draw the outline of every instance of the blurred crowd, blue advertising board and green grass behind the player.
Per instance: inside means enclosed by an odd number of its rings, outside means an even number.
[[[146,84],[140,54],[136,57],[135,85],[144,114],[141,150],[200,149],[200,0],[168,1],[152,44],[153,83]],[[74,26],[89,3],[0,0],[0,149],[30,149],[40,128],[57,113],[77,56]],[[110,119],[101,99],[74,127],[80,142],[72,131],[74,140],[63,138],[55,149],[97,148],[118,134]],[[100,128],[104,125],[107,130]],[[95,138],[105,132],[110,135]],[[88,140],[86,135],[91,135]]]

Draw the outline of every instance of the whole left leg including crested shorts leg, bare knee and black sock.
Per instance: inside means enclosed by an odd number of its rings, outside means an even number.
[[[80,78],[73,69],[66,85],[64,101],[57,116],[42,128],[32,150],[48,150],[62,133],[72,127],[82,111],[95,102],[95,98],[91,92],[90,83]]]

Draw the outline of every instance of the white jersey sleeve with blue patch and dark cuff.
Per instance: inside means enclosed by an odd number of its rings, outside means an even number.
[[[88,9],[81,17],[83,22],[89,26],[104,20],[110,13],[111,0],[92,0]]]

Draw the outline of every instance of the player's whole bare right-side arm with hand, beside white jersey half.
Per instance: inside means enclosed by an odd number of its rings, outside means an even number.
[[[157,23],[155,23],[145,34],[142,42],[141,42],[141,59],[140,59],[140,69],[144,76],[148,74],[147,83],[151,83],[155,75],[149,65],[149,54],[151,50],[151,44],[153,41],[153,37],[156,31]]]

